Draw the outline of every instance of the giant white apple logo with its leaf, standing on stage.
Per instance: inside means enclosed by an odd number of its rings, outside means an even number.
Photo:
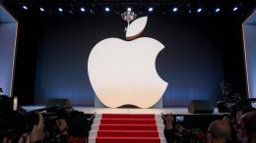
[[[145,28],[147,19],[137,19],[127,27],[126,38],[131,41],[103,39],[89,56],[90,81],[96,96],[107,107],[150,108],[167,87],[156,70],[156,59],[164,46],[150,37],[134,39]]]

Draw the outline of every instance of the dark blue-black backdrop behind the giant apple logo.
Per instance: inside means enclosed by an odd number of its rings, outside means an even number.
[[[20,21],[14,94],[23,104],[69,98],[94,106],[87,62],[96,43],[124,39],[118,15],[26,17]],[[156,67],[168,82],[163,107],[187,106],[191,99],[223,98],[221,82],[245,91],[241,21],[236,17],[151,15],[142,36],[165,48]]]

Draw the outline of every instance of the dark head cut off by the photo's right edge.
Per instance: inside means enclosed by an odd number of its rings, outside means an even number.
[[[247,142],[253,136],[256,136],[256,111],[246,113],[237,120],[237,138]]]

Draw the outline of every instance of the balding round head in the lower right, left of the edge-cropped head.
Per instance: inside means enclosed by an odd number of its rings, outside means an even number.
[[[224,143],[231,136],[230,125],[221,119],[213,121],[208,127],[208,143]]]

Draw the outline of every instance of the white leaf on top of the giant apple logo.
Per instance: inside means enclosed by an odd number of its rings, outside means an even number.
[[[128,25],[126,31],[126,40],[133,40],[139,37],[147,24],[147,20],[148,17],[142,17]]]

